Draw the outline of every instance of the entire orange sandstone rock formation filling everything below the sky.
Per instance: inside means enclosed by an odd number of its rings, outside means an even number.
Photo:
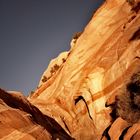
[[[8,111],[7,119],[0,116],[5,129],[0,137],[140,139],[139,86],[137,92],[130,90],[133,83],[139,85],[139,71],[140,1],[106,0],[74,36],[70,51],[51,61],[28,99],[1,90],[1,108]],[[130,117],[126,109],[132,109]],[[16,113],[21,117],[12,117]]]

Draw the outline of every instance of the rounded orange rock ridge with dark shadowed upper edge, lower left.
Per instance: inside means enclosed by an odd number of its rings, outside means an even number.
[[[43,114],[22,94],[0,89],[0,139],[72,138],[55,120]]]

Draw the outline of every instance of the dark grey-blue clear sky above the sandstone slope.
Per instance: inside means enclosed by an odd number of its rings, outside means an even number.
[[[0,0],[0,87],[27,95],[103,0]]]

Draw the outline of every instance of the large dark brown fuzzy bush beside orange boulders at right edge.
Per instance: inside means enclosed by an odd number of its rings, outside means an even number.
[[[129,83],[122,88],[121,94],[115,97],[112,106],[112,117],[121,117],[133,124],[140,122],[140,72],[131,77]]]

